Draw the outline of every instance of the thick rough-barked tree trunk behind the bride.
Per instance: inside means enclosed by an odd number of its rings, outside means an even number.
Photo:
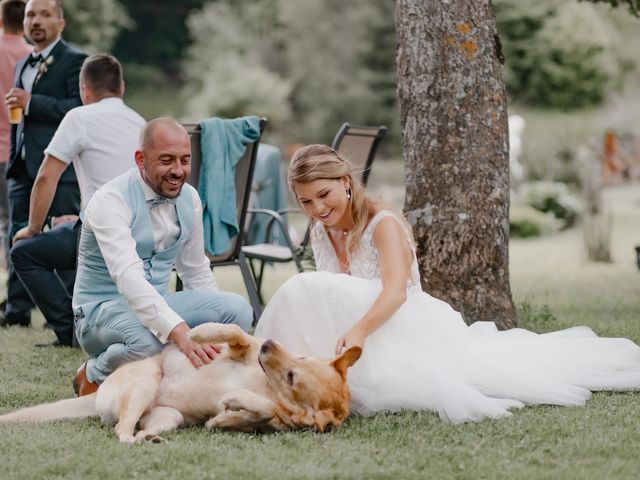
[[[509,144],[490,0],[397,0],[405,213],[422,286],[467,323],[517,325],[509,287]]]

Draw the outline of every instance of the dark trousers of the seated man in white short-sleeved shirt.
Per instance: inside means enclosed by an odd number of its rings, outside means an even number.
[[[71,300],[80,225],[79,221],[64,223],[20,240],[11,249],[16,274],[64,345],[71,345],[73,338]]]

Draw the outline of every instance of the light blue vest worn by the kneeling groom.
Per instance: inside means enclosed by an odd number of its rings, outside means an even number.
[[[193,231],[193,197],[195,191],[185,185],[178,196],[176,209],[180,224],[178,240],[169,248],[154,250],[153,227],[149,207],[139,180],[138,169],[130,170],[114,178],[107,185],[115,188],[124,197],[131,209],[131,234],[136,241],[136,252],[142,260],[145,278],[164,295],[175,260]],[[119,297],[116,284],[98,247],[93,232],[82,227],[78,246],[78,271],[73,290],[74,312],[80,317],[89,317],[102,302]]]

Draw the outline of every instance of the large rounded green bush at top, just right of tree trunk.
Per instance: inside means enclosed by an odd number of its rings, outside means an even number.
[[[596,105],[621,75],[616,33],[590,4],[494,0],[509,93],[532,105]]]

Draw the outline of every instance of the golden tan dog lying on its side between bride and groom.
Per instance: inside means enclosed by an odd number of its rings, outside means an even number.
[[[133,443],[161,441],[162,432],[201,423],[238,431],[313,427],[323,432],[349,415],[346,373],[360,357],[359,347],[325,361],[293,355],[236,325],[203,324],[190,337],[219,343],[222,350],[196,369],[170,345],[159,355],[121,366],[91,395],[17,410],[0,416],[0,423],[99,416],[115,423],[121,442]]]

